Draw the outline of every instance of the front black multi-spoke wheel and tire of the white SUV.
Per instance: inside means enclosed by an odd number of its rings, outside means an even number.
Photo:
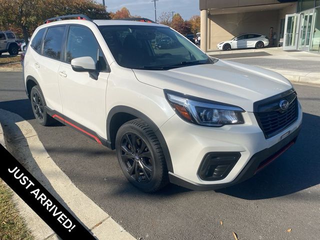
[[[141,119],[130,120],[120,126],[115,149],[123,174],[138,189],[154,192],[168,183],[160,142]]]

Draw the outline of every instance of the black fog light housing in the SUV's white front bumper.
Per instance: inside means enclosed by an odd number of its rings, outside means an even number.
[[[240,158],[240,152],[208,152],[202,159],[198,176],[204,181],[221,180]]]

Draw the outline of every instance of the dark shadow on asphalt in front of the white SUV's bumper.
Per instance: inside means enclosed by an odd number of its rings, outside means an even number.
[[[317,185],[320,183],[319,142],[320,117],[303,113],[302,128],[294,145],[255,176],[216,192],[255,200],[284,196]]]

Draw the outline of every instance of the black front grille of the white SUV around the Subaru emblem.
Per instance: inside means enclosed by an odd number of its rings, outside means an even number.
[[[279,106],[279,102],[283,99],[289,101],[289,106],[284,111]],[[260,104],[257,109],[260,109],[260,111],[255,112],[255,116],[265,138],[274,136],[297,120],[298,102],[296,93],[293,92],[279,99]]]

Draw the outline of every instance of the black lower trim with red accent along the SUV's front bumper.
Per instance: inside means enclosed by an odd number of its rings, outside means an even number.
[[[171,183],[183,186],[192,190],[197,191],[206,191],[206,190],[215,190],[219,188],[224,188],[230,185],[234,185],[236,183],[242,182],[250,177],[252,177],[258,170],[260,170],[264,164],[264,162],[270,163],[274,160],[277,156],[279,156],[282,152],[289,148],[293,143],[295,143],[296,138],[300,132],[301,125],[293,131],[290,135],[285,137],[283,140],[279,141],[278,143],[274,144],[269,148],[265,148],[262,151],[255,153],[245,167],[241,170],[241,172],[237,175],[237,177],[227,183],[219,183],[219,184],[200,184],[193,181],[189,181],[184,178],[180,178],[173,173],[169,172],[169,180]]]

